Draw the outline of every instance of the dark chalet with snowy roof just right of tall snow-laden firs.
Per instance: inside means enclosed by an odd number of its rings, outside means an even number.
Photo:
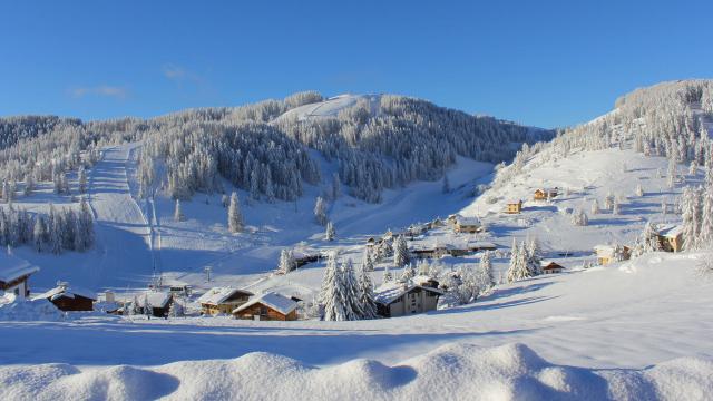
[[[443,292],[437,287],[409,283],[387,283],[375,291],[377,310],[383,317],[434,311]]]

